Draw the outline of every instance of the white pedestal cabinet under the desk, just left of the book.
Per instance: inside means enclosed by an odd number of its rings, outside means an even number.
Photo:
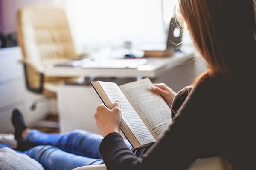
[[[61,85],[58,88],[60,131],[82,129],[99,133],[94,113],[101,103],[91,86]]]

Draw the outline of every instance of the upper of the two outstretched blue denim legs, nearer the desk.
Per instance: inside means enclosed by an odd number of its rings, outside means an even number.
[[[101,135],[84,130],[48,134],[33,129],[25,136],[24,140],[37,145],[52,145],[69,153],[99,159],[101,158],[99,145],[102,139]],[[127,140],[125,140],[125,143],[131,148],[131,144]]]

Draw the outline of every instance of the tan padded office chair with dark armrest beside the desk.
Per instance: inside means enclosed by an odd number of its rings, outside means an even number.
[[[44,68],[81,57],[76,54],[65,11],[50,5],[20,8],[17,12],[17,33],[27,89],[56,97],[56,87],[74,78],[47,77]]]

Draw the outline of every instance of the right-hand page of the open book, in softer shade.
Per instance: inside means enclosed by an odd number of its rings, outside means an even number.
[[[163,98],[151,91],[150,79],[119,86],[157,140],[172,122],[171,110]],[[120,102],[122,107],[122,102]]]

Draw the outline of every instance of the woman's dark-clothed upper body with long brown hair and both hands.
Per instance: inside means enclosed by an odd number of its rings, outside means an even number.
[[[152,87],[172,106],[172,123],[141,157],[120,136],[122,102],[112,110],[100,105],[102,158],[111,170],[185,170],[211,156],[234,170],[255,169],[255,1],[180,0],[179,6],[209,70],[177,95],[163,84]]]

